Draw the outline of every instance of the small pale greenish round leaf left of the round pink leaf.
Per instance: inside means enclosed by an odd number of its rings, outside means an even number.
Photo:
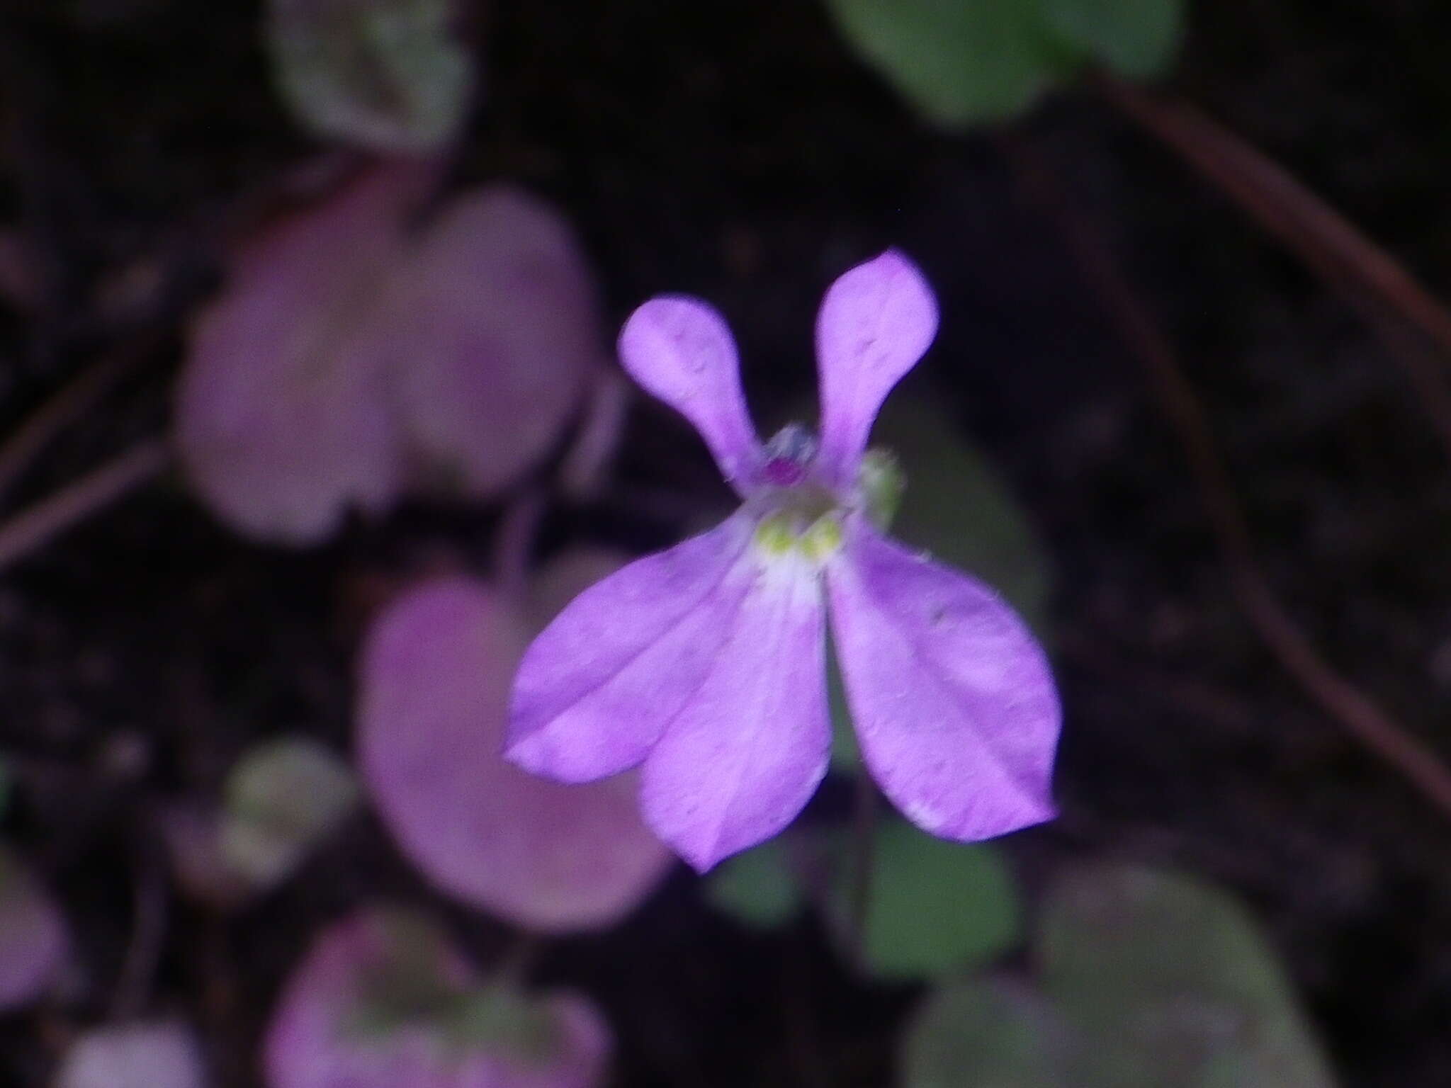
[[[322,744],[306,737],[258,744],[226,780],[222,862],[254,888],[280,883],[357,799],[353,772]]]

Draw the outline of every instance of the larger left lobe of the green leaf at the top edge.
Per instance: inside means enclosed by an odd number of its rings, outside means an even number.
[[[858,52],[948,128],[1011,118],[1077,67],[1032,0],[827,0],[827,7]]]

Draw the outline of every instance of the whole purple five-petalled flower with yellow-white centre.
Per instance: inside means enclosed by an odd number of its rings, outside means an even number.
[[[1059,706],[1042,648],[987,586],[881,531],[891,476],[868,432],[937,331],[921,273],[887,251],[817,316],[820,440],[762,445],[736,347],[662,296],[620,357],[699,431],[740,509],[577,596],[514,682],[508,757],[563,782],[643,763],[640,804],[699,870],[789,824],[826,775],[830,618],[866,767],[918,827],[979,840],[1049,820]]]

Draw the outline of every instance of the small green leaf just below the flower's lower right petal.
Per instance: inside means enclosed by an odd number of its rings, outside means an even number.
[[[856,886],[850,836],[836,840],[829,905],[846,933]],[[936,978],[988,963],[1020,936],[1017,888],[998,852],[949,843],[901,820],[876,827],[863,966],[881,978]]]

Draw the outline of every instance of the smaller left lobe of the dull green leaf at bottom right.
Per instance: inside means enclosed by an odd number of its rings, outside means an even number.
[[[1069,1088],[1069,1029],[1022,985],[969,978],[927,995],[903,1044],[903,1088]]]

